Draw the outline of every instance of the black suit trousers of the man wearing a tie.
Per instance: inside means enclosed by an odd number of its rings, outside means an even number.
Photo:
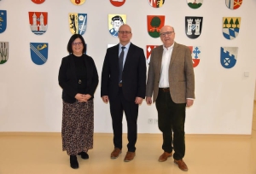
[[[125,118],[128,129],[128,144],[129,152],[135,152],[135,144],[137,142],[137,113],[138,105],[133,102],[125,100],[122,87],[119,87],[119,96],[109,102],[110,113],[112,117],[113,126],[113,145],[114,148],[122,149],[122,134],[123,134],[123,113],[125,111]]]

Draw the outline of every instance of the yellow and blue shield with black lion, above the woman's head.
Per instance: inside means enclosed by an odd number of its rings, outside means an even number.
[[[83,35],[87,26],[87,14],[70,13],[68,19],[70,32]]]

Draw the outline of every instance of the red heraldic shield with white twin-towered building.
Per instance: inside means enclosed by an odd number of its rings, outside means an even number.
[[[36,35],[42,35],[47,31],[47,12],[28,12],[31,31]]]

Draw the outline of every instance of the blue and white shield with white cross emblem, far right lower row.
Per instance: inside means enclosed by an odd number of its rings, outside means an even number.
[[[231,68],[236,65],[238,47],[221,47],[220,63],[222,67]]]

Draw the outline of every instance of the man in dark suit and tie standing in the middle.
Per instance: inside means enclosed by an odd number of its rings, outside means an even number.
[[[137,142],[138,105],[143,102],[146,90],[146,58],[143,49],[131,44],[131,27],[119,27],[119,44],[108,48],[102,67],[103,102],[110,104],[113,125],[113,145],[111,159],[119,157],[122,149],[122,119],[128,128],[128,152],[125,162],[135,156]]]

